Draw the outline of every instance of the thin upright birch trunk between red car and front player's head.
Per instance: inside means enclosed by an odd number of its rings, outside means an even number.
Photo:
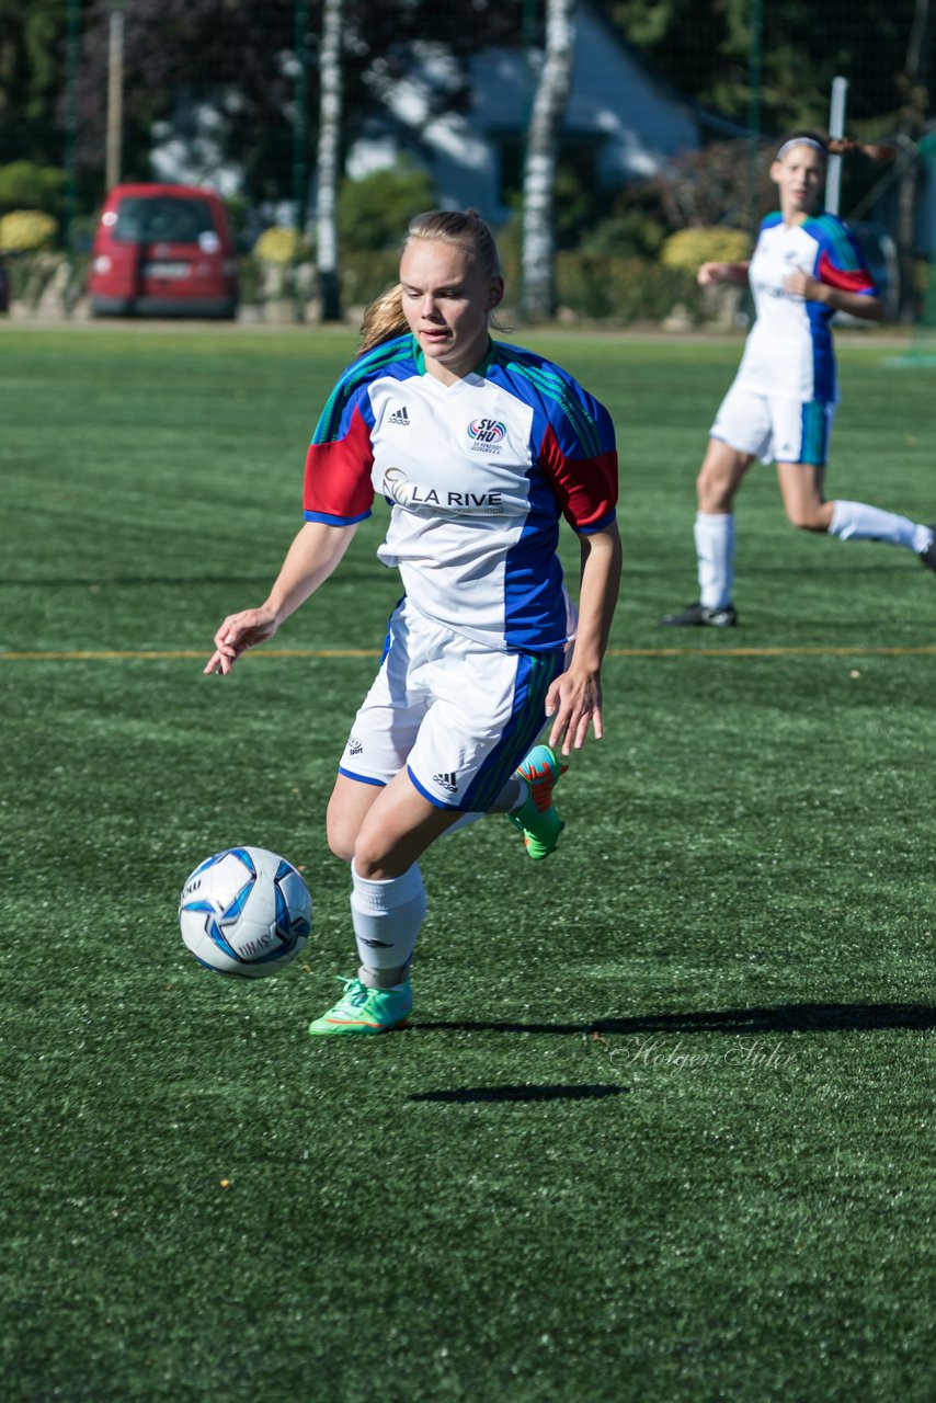
[[[341,156],[341,31],[344,0],[324,0],[319,51],[319,152],[316,170],[316,261],[321,320],[341,320],[338,275],[338,174]]]

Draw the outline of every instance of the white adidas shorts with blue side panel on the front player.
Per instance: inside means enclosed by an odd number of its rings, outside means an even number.
[[[560,654],[495,652],[404,599],[338,770],[387,784],[403,766],[436,808],[483,814],[546,724]]]

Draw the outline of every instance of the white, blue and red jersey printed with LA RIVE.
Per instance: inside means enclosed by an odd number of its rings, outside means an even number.
[[[493,648],[559,651],[560,512],[581,533],[613,521],[610,417],[518,347],[493,344],[443,384],[407,334],[338,380],[309,449],[306,519],[361,521],[377,492],[392,508],[377,554],[420,613]]]

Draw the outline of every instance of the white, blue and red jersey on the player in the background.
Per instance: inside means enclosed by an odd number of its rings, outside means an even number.
[[[835,311],[786,292],[784,279],[797,271],[846,292],[877,292],[857,244],[838,216],[817,215],[787,227],[779,212],[768,215],[748,268],[756,321],[735,384],[776,398],[835,403],[829,327]]]

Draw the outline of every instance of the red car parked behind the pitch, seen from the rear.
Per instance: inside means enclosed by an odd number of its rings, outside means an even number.
[[[94,234],[95,317],[233,317],[237,255],[225,206],[195,185],[116,185]]]

